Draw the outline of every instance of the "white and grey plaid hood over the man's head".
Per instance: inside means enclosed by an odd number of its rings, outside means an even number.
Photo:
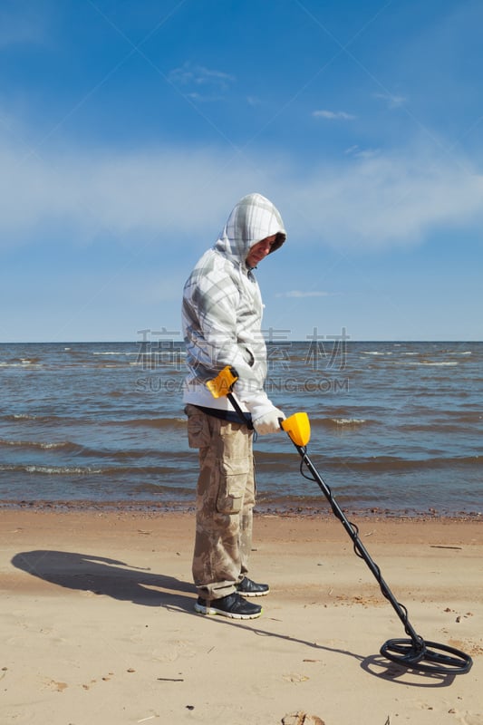
[[[286,239],[284,222],[278,209],[261,194],[248,194],[241,198],[227,219],[217,238],[215,249],[233,261],[244,262],[250,249],[262,239],[276,234],[275,249]]]

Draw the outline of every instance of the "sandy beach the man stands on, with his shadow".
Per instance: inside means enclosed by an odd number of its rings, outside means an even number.
[[[262,617],[193,612],[192,514],[0,511],[2,723],[483,725],[483,522],[352,517],[414,629],[473,658],[382,659],[402,623],[334,517],[256,516]]]

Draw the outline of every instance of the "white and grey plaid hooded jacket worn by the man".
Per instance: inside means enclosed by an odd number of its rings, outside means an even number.
[[[256,277],[246,265],[250,249],[273,235],[270,254],[285,242],[284,223],[271,201],[249,194],[238,201],[214,247],[189,275],[182,312],[188,365],[185,402],[231,411],[227,398],[214,398],[205,383],[226,365],[233,365],[238,373],[234,392],[242,410],[256,420],[274,407],[264,390],[262,298]]]

